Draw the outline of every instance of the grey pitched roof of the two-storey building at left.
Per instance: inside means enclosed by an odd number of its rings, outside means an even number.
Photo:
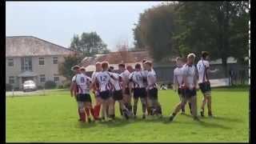
[[[74,51],[33,36],[6,37],[6,57],[66,54],[74,54]]]

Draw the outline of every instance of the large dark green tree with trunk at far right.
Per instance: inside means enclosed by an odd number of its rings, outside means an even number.
[[[248,2],[179,2],[179,24],[186,29],[175,38],[182,54],[210,51],[222,58],[227,73],[228,57],[245,58],[248,50]]]

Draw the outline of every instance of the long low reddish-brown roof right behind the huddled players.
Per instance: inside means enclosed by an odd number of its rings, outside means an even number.
[[[107,61],[110,64],[136,63],[142,62],[143,59],[153,61],[148,51],[117,51],[109,54],[97,54],[95,57],[86,57],[82,60],[82,66],[95,65],[96,62]]]

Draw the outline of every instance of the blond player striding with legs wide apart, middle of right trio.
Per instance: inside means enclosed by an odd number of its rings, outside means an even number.
[[[180,102],[173,112],[170,115],[170,121],[173,121],[176,114],[178,114],[179,110],[183,106],[186,105],[186,102],[189,101],[191,103],[191,110],[194,120],[198,119],[198,107],[197,107],[197,96],[196,96],[196,86],[198,82],[197,78],[197,70],[194,66],[194,58],[195,54],[188,54],[187,63],[183,66],[183,86],[182,86],[182,102]]]

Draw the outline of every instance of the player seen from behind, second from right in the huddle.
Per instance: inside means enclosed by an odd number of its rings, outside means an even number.
[[[143,82],[142,67],[139,63],[135,65],[135,71],[129,76],[130,82],[134,83],[134,118],[137,114],[138,98],[142,102],[142,119],[146,118],[146,87]]]

